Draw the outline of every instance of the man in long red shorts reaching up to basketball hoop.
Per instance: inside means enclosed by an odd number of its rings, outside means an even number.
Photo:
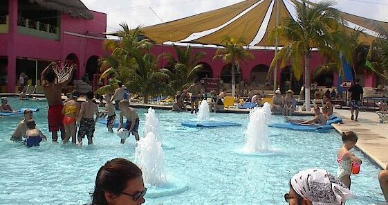
[[[46,96],[48,103],[48,131],[51,132],[51,138],[55,143],[58,142],[58,130],[61,130],[62,140],[64,140],[66,135],[63,123],[64,114],[62,114],[62,108],[64,107],[62,103],[62,88],[71,81],[74,70],[72,69],[67,80],[59,83],[57,82],[57,75],[50,66],[41,72],[41,86],[44,89],[44,96]]]

